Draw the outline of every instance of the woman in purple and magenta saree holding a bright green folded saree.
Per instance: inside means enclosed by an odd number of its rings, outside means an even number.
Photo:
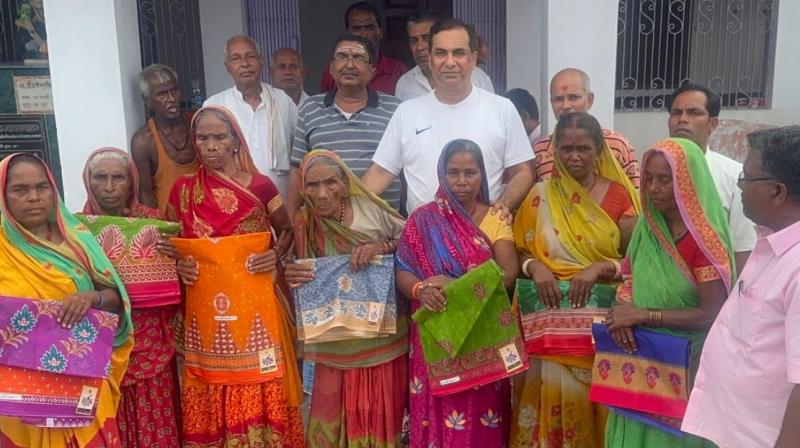
[[[439,158],[434,202],[408,220],[397,249],[397,287],[414,311],[446,309],[445,287],[494,259],[503,286],[519,271],[511,227],[489,211],[481,149],[469,140],[448,143]],[[418,324],[411,324],[410,446],[503,447],[508,443],[511,386],[502,379],[445,396],[434,396]]]

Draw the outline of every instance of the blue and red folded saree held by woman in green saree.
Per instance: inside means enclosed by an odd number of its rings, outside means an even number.
[[[597,353],[589,399],[675,434],[689,402],[688,339],[634,329],[638,350],[625,353],[605,324],[592,325]]]

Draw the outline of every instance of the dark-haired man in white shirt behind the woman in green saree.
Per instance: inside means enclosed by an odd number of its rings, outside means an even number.
[[[705,152],[711,177],[728,215],[736,268],[741,272],[757,238],[755,224],[744,215],[742,192],[736,185],[742,164],[708,148],[708,138],[719,124],[720,108],[719,96],[707,87],[684,84],[667,98],[667,125],[670,137],[689,139]]]

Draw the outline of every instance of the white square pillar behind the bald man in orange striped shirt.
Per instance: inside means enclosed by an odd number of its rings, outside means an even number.
[[[508,85],[525,87],[536,97],[550,132],[550,79],[575,67],[592,80],[600,124],[614,127],[614,75],[617,61],[617,0],[507,0]],[[527,82],[527,84],[526,84]]]

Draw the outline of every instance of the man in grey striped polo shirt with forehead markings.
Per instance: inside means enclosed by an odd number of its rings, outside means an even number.
[[[292,214],[302,205],[300,163],[312,149],[335,152],[359,177],[372,164],[375,149],[400,104],[397,98],[368,87],[376,59],[372,42],[361,36],[345,34],[336,40],[330,64],[336,90],[312,96],[298,114],[287,201]],[[396,209],[400,208],[400,186],[400,179],[395,179],[381,194]]]

